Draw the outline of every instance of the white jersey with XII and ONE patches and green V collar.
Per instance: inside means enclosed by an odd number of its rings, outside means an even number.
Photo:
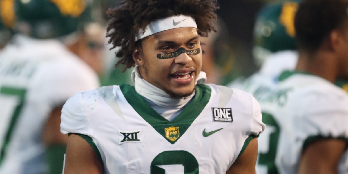
[[[106,174],[225,174],[265,127],[251,94],[212,84],[197,85],[172,121],[129,85],[78,93],[61,119],[61,132],[84,137]]]

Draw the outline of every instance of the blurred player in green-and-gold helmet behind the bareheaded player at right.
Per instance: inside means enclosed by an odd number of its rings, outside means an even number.
[[[298,1],[268,4],[257,17],[253,55],[260,70],[249,78],[237,78],[228,86],[253,92],[261,84],[276,85],[280,73],[294,70],[297,59],[294,18]]]

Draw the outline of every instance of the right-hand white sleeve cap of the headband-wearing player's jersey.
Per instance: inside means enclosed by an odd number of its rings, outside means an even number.
[[[266,128],[266,125],[262,122],[261,108],[255,97],[251,96],[251,101],[253,104],[253,113],[251,116],[251,128],[250,135],[259,135]]]

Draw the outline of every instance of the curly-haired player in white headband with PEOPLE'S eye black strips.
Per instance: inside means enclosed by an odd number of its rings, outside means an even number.
[[[65,174],[255,174],[264,129],[246,92],[204,85],[199,36],[214,30],[215,0],[126,0],[108,10],[118,64],[135,86],[81,92],[63,106]]]

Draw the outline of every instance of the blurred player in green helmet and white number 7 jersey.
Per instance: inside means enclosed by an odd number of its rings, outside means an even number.
[[[61,174],[62,105],[99,86],[104,31],[91,1],[11,2],[18,33],[0,56],[0,173]]]

